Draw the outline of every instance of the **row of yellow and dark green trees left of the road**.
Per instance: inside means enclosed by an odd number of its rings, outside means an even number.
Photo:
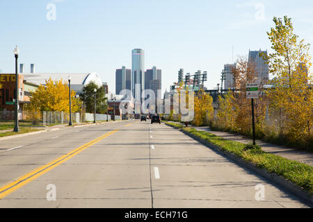
[[[72,112],[80,112],[85,109],[86,112],[93,113],[95,110],[95,92],[97,89],[97,113],[104,114],[107,110],[104,87],[98,87],[95,83],[89,83],[83,87],[83,93],[76,96],[76,92],[71,90],[66,81],[63,80],[46,80],[45,85],[40,85],[32,93],[31,103],[27,106],[30,111],[64,111],[70,110],[70,96]]]

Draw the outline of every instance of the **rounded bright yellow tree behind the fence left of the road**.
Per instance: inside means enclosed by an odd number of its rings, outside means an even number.
[[[75,98],[74,90],[71,90],[72,112],[77,112],[81,107],[81,101]],[[69,87],[63,80],[46,80],[45,85],[40,85],[31,96],[29,110],[40,111],[70,111]]]

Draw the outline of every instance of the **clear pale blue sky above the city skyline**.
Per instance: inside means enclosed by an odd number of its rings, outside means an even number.
[[[55,20],[47,19],[49,3]],[[26,72],[30,63],[37,72],[96,71],[115,92],[115,69],[131,68],[131,49],[140,48],[145,69],[162,69],[163,91],[177,81],[179,68],[208,71],[212,89],[224,64],[249,49],[271,50],[266,31],[274,16],[284,15],[301,39],[313,42],[308,0],[1,0],[0,69],[14,72],[17,44]]]

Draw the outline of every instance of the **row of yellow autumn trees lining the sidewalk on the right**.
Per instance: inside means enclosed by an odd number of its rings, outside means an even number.
[[[291,19],[276,18],[269,31],[273,53],[262,55],[268,62],[273,79],[255,99],[255,126],[257,137],[313,150],[313,89],[309,74],[310,44],[294,34]],[[203,91],[195,96],[193,124],[208,124],[211,128],[251,135],[251,100],[246,99],[246,83],[254,82],[257,71],[254,64],[240,58],[233,69],[236,92],[218,96],[214,112],[212,98]]]

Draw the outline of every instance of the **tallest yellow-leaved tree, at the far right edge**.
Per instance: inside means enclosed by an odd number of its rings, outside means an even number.
[[[271,110],[284,118],[280,122],[280,134],[289,141],[302,141],[312,136],[313,91],[308,87],[312,83],[309,55],[310,44],[298,40],[294,34],[291,19],[274,17],[275,27],[268,32],[274,53],[264,58],[268,61],[272,88],[266,90]]]

